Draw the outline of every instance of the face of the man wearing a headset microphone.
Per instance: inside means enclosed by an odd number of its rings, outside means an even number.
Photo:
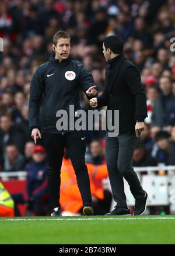
[[[54,44],[53,44],[54,47]],[[60,38],[55,46],[55,56],[59,60],[66,60],[70,54],[71,43],[68,38]],[[59,54],[61,53],[61,54]]]

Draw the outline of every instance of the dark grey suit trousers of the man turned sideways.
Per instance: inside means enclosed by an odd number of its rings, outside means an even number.
[[[139,179],[132,167],[132,157],[136,144],[135,132],[106,136],[106,160],[113,198],[117,206],[127,207],[123,177],[129,184],[132,195],[140,199],[145,195]]]

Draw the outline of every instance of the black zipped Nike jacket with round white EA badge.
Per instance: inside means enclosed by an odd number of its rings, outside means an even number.
[[[67,110],[69,105],[74,105],[75,111],[81,109],[79,104],[79,89],[84,92],[94,85],[93,77],[88,70],[78,61],[55,60],[40,65],[33,75],[30,86],[29,100],[29,127],[30,130],[38,127],[38,114],[43,96],[43,132],[61,133],[57,130],[56,117],[58,110]],[[68,117],[69,119],[69,117]],[[68,124],[69,130],[69,124]]]

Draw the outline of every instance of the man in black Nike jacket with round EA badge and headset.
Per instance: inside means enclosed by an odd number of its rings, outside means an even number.
[[[60,216],[60,170],[64,147],[67,148],[71,158],[79,191],[83,200],[84,215],[92,215],[92,198],[88,169],[85,165],[86,135],[83,130],[71,130],[72,123],[68,123],[67,129],[58,129],[58,111],[66,110],[68,116],[69,106],[76,110],[79,105],[79,89],[82,89],[90,99],[97,94],[93,77],[82,64],[71,60],[69,57],[71,39],[64,31],[55,33],[53,37],[54,56],[50,61],[40,65],[33,75],[30,87],[29,101],[29,126],[34,142],[41,138],[38,130],[38,113],[41,98],[43,97],[43,129],[42,137],[47,151],[48,164],[48,188],[51,196],[51,216]],[[72,116],[71,116],[72,117]]]

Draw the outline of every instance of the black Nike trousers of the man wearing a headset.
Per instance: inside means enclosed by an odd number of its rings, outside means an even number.
[[[51,209],[60,207],[61,165],[64,148],[71,159],[83,205],[92,206],[88,169],[85,165],[86,134],[84,131],[72,131],[64,134],[42,133],[48,159],[48,189]]]

